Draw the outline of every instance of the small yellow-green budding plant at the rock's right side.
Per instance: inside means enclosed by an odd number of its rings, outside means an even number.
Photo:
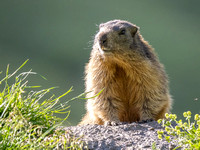
[[[166,119],[158,120],[159,124],[165,128],[165,130],[158,131],[158,138],[163,137],[168,141],[173,141],[178,145],[175,149],[181,147],[185,150],[200,150],[200,115],[194,116],[194,122],[191,122],[191,112],[187,111],[183,113],[185,122],[177,120],[175,114],[165,114]],[[176,126],[172,124],[176,123]]]

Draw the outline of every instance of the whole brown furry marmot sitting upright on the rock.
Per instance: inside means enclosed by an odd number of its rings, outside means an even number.
[[[99,25],[85,73],[87,113],[80,125],[158,120],[171,108],[164,67],[130,22]]]

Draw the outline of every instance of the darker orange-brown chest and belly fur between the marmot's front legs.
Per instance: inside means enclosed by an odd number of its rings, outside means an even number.
[[[129,76],[122,68],[117,68],[108,87],[108,96],[113,98],[111,103],[117,107],[118,117],[122,122],[140,120],[147,90],[140,78],[138,75]]]

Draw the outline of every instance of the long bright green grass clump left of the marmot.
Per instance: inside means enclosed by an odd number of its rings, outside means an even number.
[[[36,73],[31,71],[18,73],[26,62],[12,74],[9,74],[8,66],[5,77],[0,80],[0,89],[2,89],[0,91],[0,149],[82,149],[86,147],[85,143],[75,138],[70,131],[61,128],[70,110],[69,101],[61,104],[59,100],[71,92],[72,88],[63,95],[55,97],[50,95],[50,91],[54,88],[41,90],[39,86],[29,86],[27,77]],[[14,82],[10,83],[13,79]],[[65,113],[66,118],[56,117],[54,115],[56,113]]]

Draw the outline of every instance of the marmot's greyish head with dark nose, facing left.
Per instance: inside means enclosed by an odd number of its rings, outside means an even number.
[[[112,20],[99,25],[94,46],[101,54],[112,54],[136,48],[138,27],[130,22]]]

